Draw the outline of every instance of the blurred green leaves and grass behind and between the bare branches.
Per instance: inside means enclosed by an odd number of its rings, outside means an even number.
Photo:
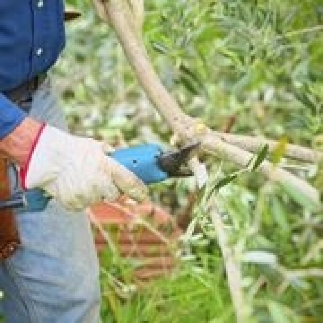
[[[54,74],[70,129],[112,144],[168,144],[171,129],[147,101],[113,31],[89,1],[68,3],[82,17],[68,24]],[[285,141],[323,147],[321,0],[154,0],[145,11],[148,53],[186,113],[216,130],[234,120],[231,132],[274,138],[281,147]],[[274,162],[285,162],[282,150],[270,156]],[[235,170],[220,158],[203,158],[211,174]],[[286,162],[321,190],[317,165]],[[151,188],[151,200],[176,216],[194,190],[190,180],[168,181]],[[241,270],[250,322],[322,322],[322,214],[256,173],[239,177],[216,198],[231,245],[241,258],[247,255]],[[234,322],[212,230],[191,236],[184,249],[179,269],[140,292],[127,285],[130,265],[107,250],[103,322]],[[115,277],[126,284],[122,297]]]

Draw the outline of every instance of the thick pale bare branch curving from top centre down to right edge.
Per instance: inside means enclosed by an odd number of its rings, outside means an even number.
[[[133,30],[135,17],[125,13],[125,8],[127,8],[126,12],[129,11],[127,1],[93,1],[99,16],[114,28],[125,55],[149,99],[172,127],[175,134],[183,141],[199,140],[202,143],[202,149],[212,154],[220,154],[220,156],[228,158],[240,167],[244,167],[253,157],[253,154],[238,147],[238,145],[236,146],[237,142],[235,144],[230,143],[229,137],[224,139],[218,132],[208,129],[201,121],[184,114],[176,100],[163,86],[151,65],[141,37],[138,37],[138,31]],[[304,194],[315,205],[320,205],[318,191],[297,176],[278,166],[275,167],[267,160],[263,161],[259,170],[268,179],[284,186],[291,186]]]

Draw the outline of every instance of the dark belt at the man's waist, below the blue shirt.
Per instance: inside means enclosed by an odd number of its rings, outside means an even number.
[[[36,90],[41,86],[47,77],[46,73],[41,73],[32,79],[25,81],[21,85],[11,90],[5,91],[3,94],[12,102],[19,105],[23,110],[29,109],[30,102]],[[28,111],[26,111],[28,112]]]

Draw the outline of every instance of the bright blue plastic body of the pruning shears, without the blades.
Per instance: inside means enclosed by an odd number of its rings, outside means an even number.
[[[158,156],[162,152],[159,145],[145,144],[115,150],[110,156],[135,173],[145,184],[151,184],[162,182],[168,178],[167,173],[163,172],[158,166]],[[16,202],[14,200],[10,201],[11,205],[15,207],[16,203],[16,207],[21,208],[21,198],[21,196],[19,198],[17,196]],[[15,195],[13,199],[15,199]],[[50,197],[41,189],[26,190],[24,192],[25,206],[23,210],[26,212],[42,211],[46,208],[49,200]]]

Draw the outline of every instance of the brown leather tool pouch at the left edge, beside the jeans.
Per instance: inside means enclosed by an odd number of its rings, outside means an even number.
[[[10,198],[8,161],[0,158],[0,200]],[[12,209],[0,210],[0,261],[12,256],[21,245],[16,218]]]

